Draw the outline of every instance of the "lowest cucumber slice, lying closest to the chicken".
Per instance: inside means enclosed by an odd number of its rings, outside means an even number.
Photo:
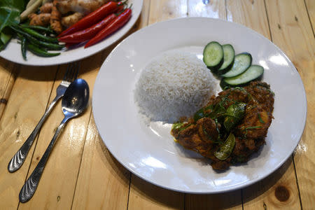
[[[262,73],[264,73],[264,68],[262,68],[262,66],[252,65],[244,73],[241,73],[238,76],[224,78],[223,82],[232,86],[244,85],[251,80],[259,78],[262,76]]]

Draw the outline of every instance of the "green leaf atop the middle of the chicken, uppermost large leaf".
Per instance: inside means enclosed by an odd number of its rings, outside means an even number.
[[[244,117],[246,104],[232,104],[226,110],[226,117],[224,119],[224,127],[230,131],[235,125]]]

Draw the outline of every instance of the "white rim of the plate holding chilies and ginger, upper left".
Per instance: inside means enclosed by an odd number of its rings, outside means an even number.
[[[83,45],[79,48],[64,50],[62,54],[57,57],[38,57],[31,52],[27,52],[27,61],[25,61],[21,54],[21,45],[16,39],[13,39],[10,43],[8,43],[6,49],[0,52],[0,57],[8,59],[11,62],[29,66],[51,66],[73,62],[90,55],[94,55],[122,38],[137,21],[142,10],[143,0],[130,0],[128,1],[128,4],[130,5],[130,3],[132,3],[132,18],[130,18],[127,24],[108,38],[104,39],[104,41],[101,41],[96,45],[92,45],[90,48],[84,49]]]

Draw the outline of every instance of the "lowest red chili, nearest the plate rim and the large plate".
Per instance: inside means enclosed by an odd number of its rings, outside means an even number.
[[[113,32],[120,29],[120,27],[123,27],[125,23],[131,18],[132,10],[130,8],[127,8],[123,13],[118,15],[117,18],[115,18],[107,27],[102,29],[102,31],[99,31],[99,33],[94,36],[90,41],[88,41],[84,48],[88,48],[91,45],[94,45],[95,43],[98,43],[102,39],[106,38],[106,36],[109,36],[110,34],[113,34]]]

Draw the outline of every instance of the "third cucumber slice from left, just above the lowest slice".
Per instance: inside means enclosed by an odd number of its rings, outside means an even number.
[[[237,75],[243,73],[244,71],[246,71],[246,69],[248,69],[248,67],[251,66],[251,61],[252,61],[251,54],[249,54],[247,52],[243,52],[239,55],[236,55],[235,59],[234,59],[233,66],[230,69],[230,71],[228,71],[227,73],[225,73],[221,76],[223,76],[223,77],[237,76]]]

